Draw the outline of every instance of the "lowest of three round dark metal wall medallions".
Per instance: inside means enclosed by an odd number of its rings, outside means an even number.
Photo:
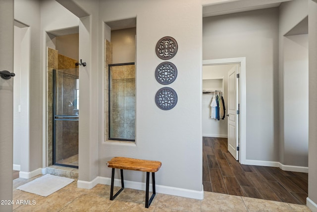
[[[155,103],[162,110],[170,110],[177,103],[177,94],[170,87],[162,87],[155,95]]]

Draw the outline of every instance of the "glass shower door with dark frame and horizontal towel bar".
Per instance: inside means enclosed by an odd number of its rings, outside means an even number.
[[[53,165],[78,168],[78,69],[53,70]]]

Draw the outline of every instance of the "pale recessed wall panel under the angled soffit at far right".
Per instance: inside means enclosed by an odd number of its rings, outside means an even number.
[[[308,35],[284,39],[284,163],[308,167]]]

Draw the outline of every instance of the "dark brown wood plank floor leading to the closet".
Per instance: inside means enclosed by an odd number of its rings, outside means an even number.
[[[242,165],[227,151],[227,139],[203,137],[204,191],[306,205],[308,174]]]

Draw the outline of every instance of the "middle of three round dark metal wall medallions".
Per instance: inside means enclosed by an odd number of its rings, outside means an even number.
[[[167,85],[175,81],[177,77],[177,68],[170,62],[159,64],[155,71],[155,78],[161,84]]]

